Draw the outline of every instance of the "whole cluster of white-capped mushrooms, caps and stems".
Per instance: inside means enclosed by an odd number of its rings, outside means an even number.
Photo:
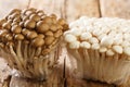
[[[75,76],[120,85],[130,76],[130,21],[86,17],[64,33],[67,53],[77,61]]]

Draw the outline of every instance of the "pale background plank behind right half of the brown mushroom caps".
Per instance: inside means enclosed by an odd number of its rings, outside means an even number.
[[[58,17],[61,16],[61,8],[63,7],[64,0],[31,0],[29,8],[41,9],[46,13],[54,13]]]

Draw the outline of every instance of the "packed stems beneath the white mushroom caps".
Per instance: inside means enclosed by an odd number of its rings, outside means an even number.
[[[91,49],[67,50],[69,58],[77,61],[76,75],[79,78],[121,85],[130,75],[130,60],[125,54],[108,57]]]

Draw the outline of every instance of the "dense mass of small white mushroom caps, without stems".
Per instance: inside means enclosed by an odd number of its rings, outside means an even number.
[[[107,55],[130,55],[130,21],[123,18],[81,17],[69,24],[65,40],[70,49],[86,48]]]

